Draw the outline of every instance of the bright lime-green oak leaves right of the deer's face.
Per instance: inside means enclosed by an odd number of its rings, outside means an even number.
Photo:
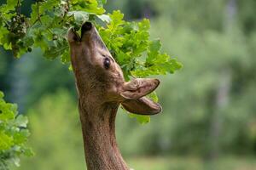
[[[160,52],[159,39],[149,39],[149,20],[128,22],[124,14],[113,11],[110,22],[99,31],[113,57],[121,65],[125,78],[165,75],[180,69],[182,65],[168,54]]]

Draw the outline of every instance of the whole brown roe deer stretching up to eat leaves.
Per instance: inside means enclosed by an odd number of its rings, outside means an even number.
[[[81,37],[71,28],[67,33],[71,61],[79,96],[79,115],[88,170],[128,170],[115,139],[114,122],[119,105],[140,115],[161,111],[159,104],[145,95],[160,81],[136,78],[125,82],[115,62],[90,22],[81,28]]]

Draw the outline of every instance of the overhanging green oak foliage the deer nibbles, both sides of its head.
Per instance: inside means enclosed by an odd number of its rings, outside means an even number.
[[[47,59],[70,62],[67,30],[84,21],[93,22],[103,41],[124,71],[125,79],[173,73],[182,67],[176,59],[161,53],[160,40],[150,40],[149,20],[128,22],[119,10],[104,14],[105,0],[37,0],[29,17],[20,14],[22,0],[8,0],[0,7],[0,45],[16,57],[41,48]],[[157,100],[156,94],[151,97]],[[149,116],[137,116],[149,122]]]

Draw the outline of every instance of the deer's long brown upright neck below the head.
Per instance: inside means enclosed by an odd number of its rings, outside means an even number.
[[[79,99],[79,114],[88,170],[128,170],[115,138],[118,103],[96,104]]]

